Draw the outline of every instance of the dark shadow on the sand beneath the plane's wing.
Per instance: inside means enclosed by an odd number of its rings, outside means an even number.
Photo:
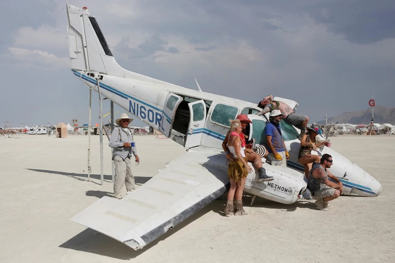
[[[202,208],[201,210],[190,216],[188,219],[181,222],[176,227],[169,229],[165,234],[161,235],[156,240],[152,241],[140,250],[133,250],[125,244],[89,228],[73,236],[63,244],[59,245],[59,247],[93,253],[120,260],[130,260],[143,254],[148,249],[157,245],[160,241],[163,241],[172,234],[186,227],[191,222],[208,213],[210,210],[211,208],[209,207],[209,205]]]

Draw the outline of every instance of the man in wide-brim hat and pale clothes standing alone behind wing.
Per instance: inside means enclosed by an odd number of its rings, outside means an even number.
[[[122,113],[119,119],[115,121],[118,127],[114,128],[109,142],[109,146],[113,148],[115,166],[114,197],[118,199],[125,197],[128,192],[136,189],[130,158],[133,154],[137,163],[140,162],[140,159],[137,155],[132,131],[129,128],[132,121],[133,119],[129,118],[126,113]]]

